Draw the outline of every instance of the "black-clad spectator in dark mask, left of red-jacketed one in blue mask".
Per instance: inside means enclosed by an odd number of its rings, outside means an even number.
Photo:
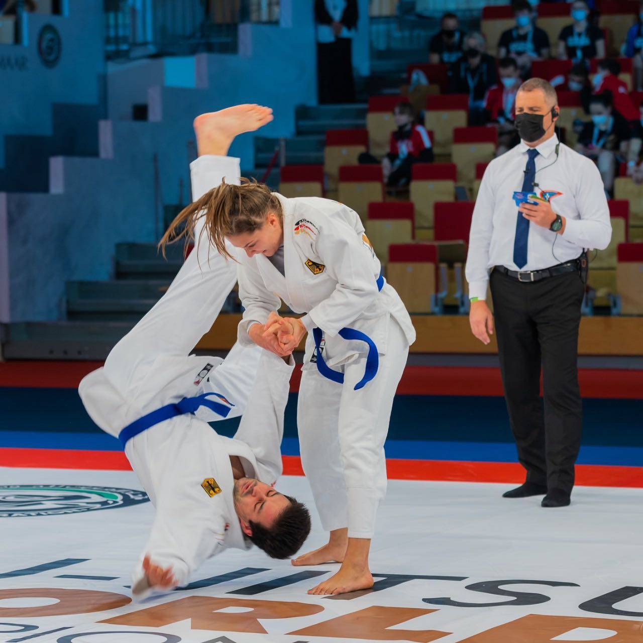
[[[485,53],[485,45],[481,33],[469,33],[464,39],[464,57],[449,72],[449,93],[469,95],[469,125],[484,124],[485,96],[498,83],[496,60]]]

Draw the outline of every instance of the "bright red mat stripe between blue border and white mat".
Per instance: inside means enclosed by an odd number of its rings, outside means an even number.
[[[122,451],[0,448],[0,466],[37,469],[100,469],[129,471]],[[520,484],[525,473],[513,462],[451,462],[446,460],[386,460],[390,480],[506,482]],[[284,474],[303,475],[298,456],[284,456]],[[643,487],[643,467],[579,464],[576,484],[591,487]]]

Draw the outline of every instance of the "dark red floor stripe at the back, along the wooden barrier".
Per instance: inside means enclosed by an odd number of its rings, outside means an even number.
[[[77,388],[87,373],[102,362],[24,361],[0,363],[0,386]],[[297,392],[301,371],[295,370],[291,390]],[[643,399],[643,370],[583,368],[579,370],[583,397]],[[408,366],[400,395],[502,396],[498,368]]]

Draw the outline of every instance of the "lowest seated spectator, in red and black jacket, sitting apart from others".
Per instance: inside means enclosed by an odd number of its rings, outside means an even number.
[[[407,186],[411,181],[413,163],[431,163],[433,149],[429,134],[423,125],[415,120],[410,103],[395,105],[393,118],[397,129],[391,133],[388,154],[382,159],[382,172],[386,185],[391,188]],[[379,163],[372,154],[363,152],[359,163]]]

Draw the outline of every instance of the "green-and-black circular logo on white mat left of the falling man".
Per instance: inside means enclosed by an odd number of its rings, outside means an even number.
[[[59,516],[131,507],[148,502],[145,491],[86,485],[0,485],[0,518]]]

